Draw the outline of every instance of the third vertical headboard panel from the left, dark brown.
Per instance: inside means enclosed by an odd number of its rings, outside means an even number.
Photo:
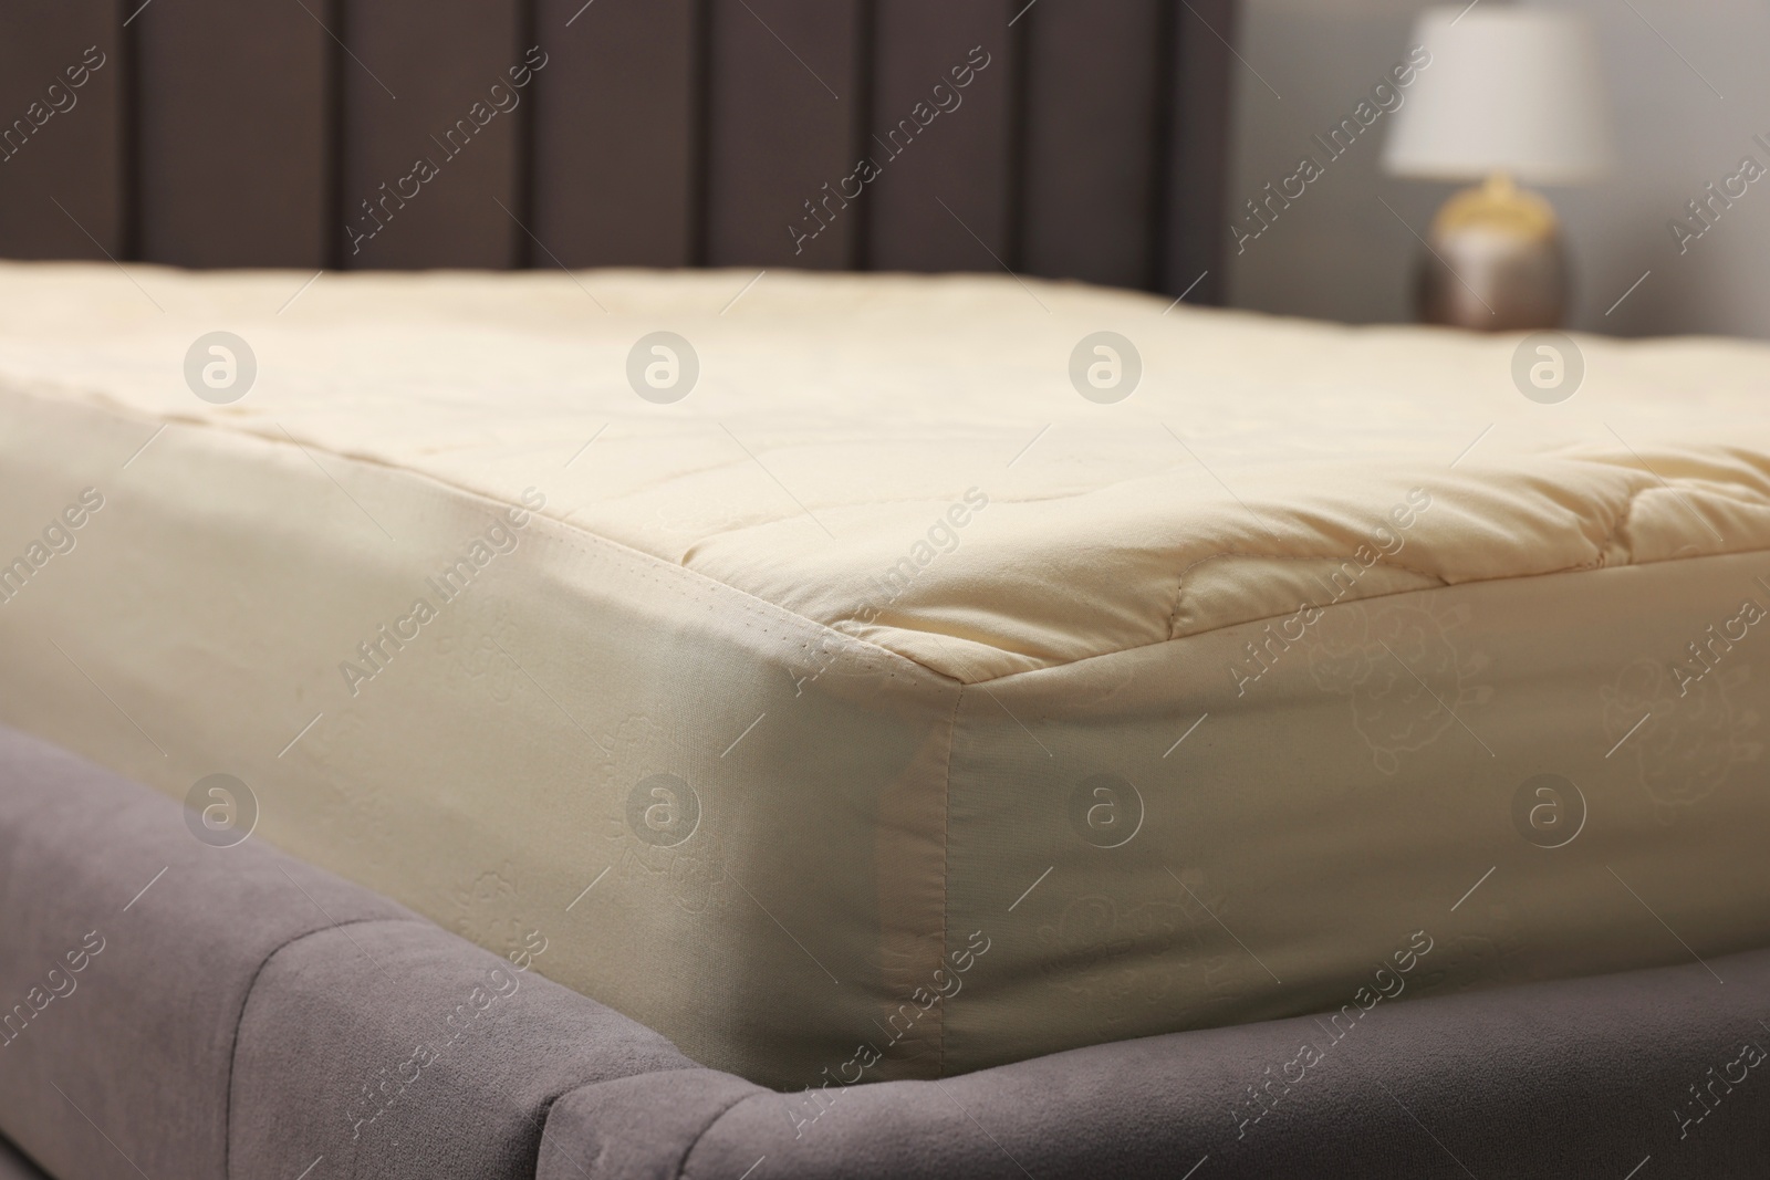
[[[533,44],[524,12],[517,0],[345,0],[347,267],[522,262],[512,214],[527,111],[506,71]]]

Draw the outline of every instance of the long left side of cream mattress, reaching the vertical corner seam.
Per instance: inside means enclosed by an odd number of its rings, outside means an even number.
[[[782,1088],[938,962],[950,681],[535,513],[545,469],[159,426],[0,396],[7,724],[232,775],[253,839]]]

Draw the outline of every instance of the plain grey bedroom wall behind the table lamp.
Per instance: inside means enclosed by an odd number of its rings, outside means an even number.
[[[1351,113],[1407,51],[1423,7],[1243,0],[1237,50],[1246,65],[1235,71],[1230,207],[1290,175],[1310,136]],[[1752,143],[1759,133],[1770,140],[1770,9],[1756,0],[1554,7],[1582,11],[1597,27],[1616,126],[1618,168],[1609,179],[1547,189],[1574,253],[1572,326],[1630,336],[1770,336],[1770,184],[1751,186],[1683,255],[1666,226],[1742,156],[1770,165],[1770,150]],[[1374,131],[1382,131],[1381,120]],[[1234,306],[1351,322],[1411,318],[1420,244],[1379,196],[1423,232],[1453,186],[1382,175],[1381,147],[1381,136],[1361,138],[1243,253],[1230,239]],[[1644,271],[1646,281],[1605,317]]]

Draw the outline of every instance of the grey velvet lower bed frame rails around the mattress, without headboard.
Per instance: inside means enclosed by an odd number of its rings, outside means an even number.
[[[1761,1176],[1770,952],[781,1095],[0,727],[0,1134],[60,1180]],[[78,966],[76,966],[78,964]],[[1329,1046],[1299,1077],[1297,1046]],[[1646,1161],[1643,1164],[1643,1161]],[[1632,1171],[1639,1168],[1639,1171]],[[34,1175],[0,1145],[0,1180]]]

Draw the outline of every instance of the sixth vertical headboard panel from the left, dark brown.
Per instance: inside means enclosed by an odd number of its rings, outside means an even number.
[[[880,163],[867,184],[871,269],[982,271],[1012,258],[1016,7],[878,0],[873,119],[855,152]],[[988,62],[982,71],[972,64],[977,46]],[[917,111],[929,120],[926,134],[894,154],[887,136],[904,120],[920,127]]]

